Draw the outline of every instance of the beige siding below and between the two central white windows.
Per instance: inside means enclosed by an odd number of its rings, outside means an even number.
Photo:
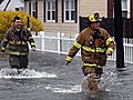
[[[42,8],[44,8],[44,6],[42,6]],[[39,11],[41,11],[40,7],[39,7]],[[49,31],[64,32],[64,33],[78,33],[79,32],[79,23],[62,22],[62,0],[58,0],[58,22],[43,22],[43,24],[44,24],[44,31],[47,32]]]

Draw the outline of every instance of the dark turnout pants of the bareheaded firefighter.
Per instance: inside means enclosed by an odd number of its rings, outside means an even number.
[[[9,56],[9,64],[11,68],[16,69],[27,69],[28,68],[28,56]]]

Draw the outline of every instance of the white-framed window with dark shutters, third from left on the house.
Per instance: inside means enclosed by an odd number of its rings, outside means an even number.
[[[75,0],[64,0],[63,6],[63,21],[64,22],[75,22],[76,19],[76,6]]]

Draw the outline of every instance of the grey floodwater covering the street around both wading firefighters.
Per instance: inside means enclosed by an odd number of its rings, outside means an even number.
[[[29,69],[10,69],[8,58],[0,59],[0,100],[133,100],[133,68],[116,69],[108,61],[100,80],[101,91],[86,92],[81,59],[64,66],[65,56],[30,52]]]

